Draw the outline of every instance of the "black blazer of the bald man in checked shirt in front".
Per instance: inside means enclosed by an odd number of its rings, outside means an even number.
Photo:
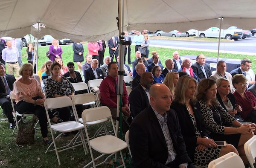
[[[173,147],[177,153],[177,164],[191,162],[181,135],[177,114],[172,109],[166,114]],[[131,168],[168,168],[165,165],[168,158],[166,140],[150,105],[131,123],[129,141],[132,154]]]

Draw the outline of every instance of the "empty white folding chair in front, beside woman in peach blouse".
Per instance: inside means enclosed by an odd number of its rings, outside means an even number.
[[[87,150],[87,147],[86,147],[86,144],[85,144],[84,135],[82,133],[82,129],[84,128],[84,125],[79,123],[77,113],[74,109],[73,109],[73,112],[74,112],[74,116],[75,116],[76,121],[61,122],[61,123],[58,123],[58,124],[51,125],[48,110],[55,109],[55,108],[62,108],[62,107],[70,107],[70,106],[72,106],[72,108],[73,108],[72,101],[69,97],[47,98],[44,101],[44,108],[45,108],[45,112],[47,114],[47,119],[48,119],[50,131],[51,131],[51,135],[52,135],[52,143],[51,143],[51,145],[49,145],[49,147],[47,148],[47,151],[45,153],[47,153],[48,151],[55,150],[59,165],[61,165],[61,162],[60,162],[60,158],[59,158],[58,153],[61,152],[61,151],[65,151],[67,149],[75,148],[79,145],[83,145],[84,153],[85,154],[88,153],[88,150]],[[61,133],[58,136],[54,137],[53,130],[61,132]],[[57,148],[55,140],[58,137],[60,137],[63,133],[68,133],[68,132],[72,132],[72,131],[76,131],[76,130],[79,130],[79,132],[76,134],[76,136],[74,136],[74,138],[67,145]],[[72,143],[72,142],[79,135],[80,135],[82,143],[74,145],[74,143]],[[49,150],[49,148],[52,146],[52,144],[54,145],[54,149]]]

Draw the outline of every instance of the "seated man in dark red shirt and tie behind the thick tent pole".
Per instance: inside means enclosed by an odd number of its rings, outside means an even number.
[[[117,107],[117,76],[118,67],[116,62],[111,62],[108,64],[108,76],[103,79],[99,86],[100,90],[100,101],[103,105],[108,106],[111,110],[113,119],[116,119],[116,107]],[[122,97],[122,113],[125,116],[130,116],[130,110],[128,107],[128,94],[125,87],[125,82],[123,82],[123,97]]]

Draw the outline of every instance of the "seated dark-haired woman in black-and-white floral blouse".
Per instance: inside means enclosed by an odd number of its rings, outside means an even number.
[[[51,66],[52,77],[45,82],[44,93],[47,98],[68,96],[72,98],[75,89],[66,77],[60,76],[61,65],[55,62]],[[55,109],[63,121],[70,119],[70,107]]]

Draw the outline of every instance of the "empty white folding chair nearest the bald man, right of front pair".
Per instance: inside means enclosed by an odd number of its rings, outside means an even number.
[[[84,122],[84,130],[86,133],[87,140],[90,139],[87,131],[87,124],[86,124],[87,122],[94,122],[94,121],[105,119],[105,118],[111,119],[112,127],[115,133],[115,136],[105,135],[105,136],[99,136],[94,139],[88,140],[88,146],[90,149],[92,161],[87,165],[85,165],[84,168],[89,166],[91,163],[93,163],[93,167],[96,168],[96,166],[102,165],[109,157],[111,157],[113,154],[115,154],[118,151],[120,152],[122,163],[123,163],[118,167],[126,168],[121,150],[127,148],[127,144],[123,140],[117,138],[115,126],[114,126],[113,119],[111,116],[111,111],[109,110],[109,108],[106,106],[102,106],[102,107],[86,109],[82,113],[82,118]],[[98,151],[102,155],[94,159],[92,149],[94,149],[95,151]],[[109,156],[102,163],[99,163],[96,165],[95,160],[101,158],[102,156],[105,156],[106,154],[108,154]]]

